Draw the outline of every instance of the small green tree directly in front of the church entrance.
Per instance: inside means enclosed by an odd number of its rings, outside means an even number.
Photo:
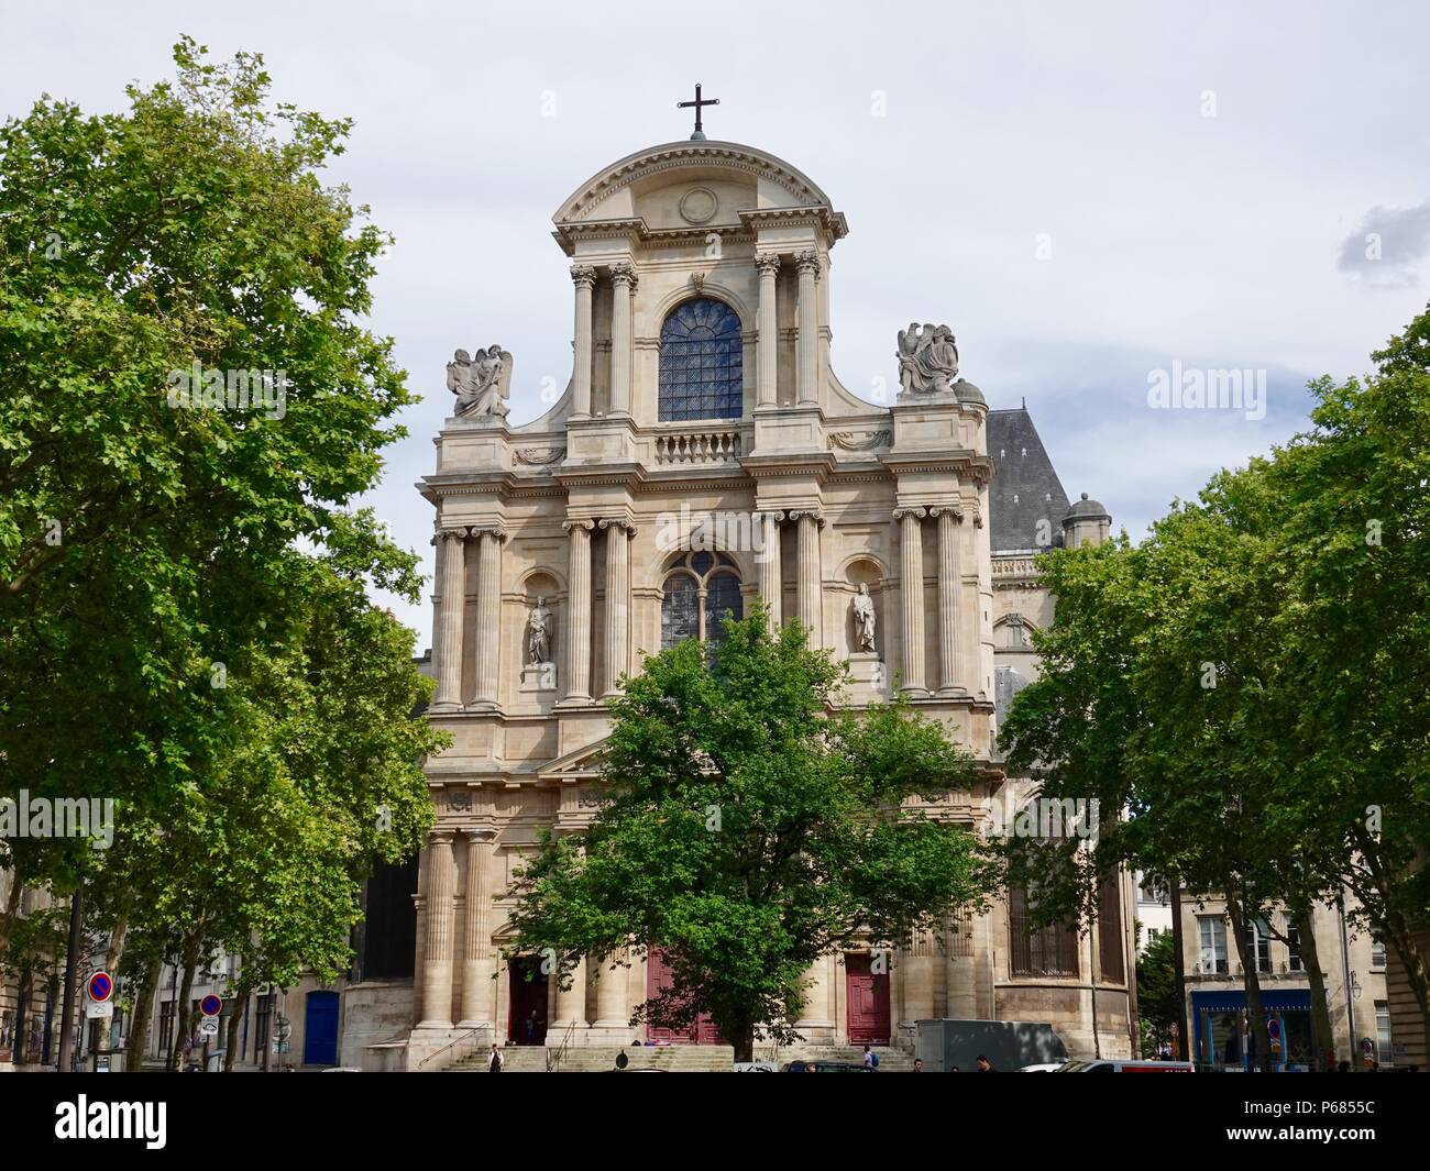
[[[885,954],[958,906],[981,906],[985,862],[928,802],[972,782],[971,759],[905,705],[837,711],[842,668],[799,623],[759,608],[712,646],[645,662],[613,705],[605,804],[549,838],[515,886],[516,948],[555,955],[659,949],[672,984],[635,1019],[709,1014],[749,1059],[756,1035],[795,1039],[815,959]]]

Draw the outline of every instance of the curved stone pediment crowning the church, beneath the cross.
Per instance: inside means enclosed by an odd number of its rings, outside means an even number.
[[[784,159],[739,143],[676,142],[638,150],[593,174],[552,217],[559,226],[664,213],[662,190],[692,184],[715,192],[721,219],[775,207],[831,207],[829,197]],[[648,220],[649,223],[649,220]],[[655,227],[654,223],[651,223]]]

